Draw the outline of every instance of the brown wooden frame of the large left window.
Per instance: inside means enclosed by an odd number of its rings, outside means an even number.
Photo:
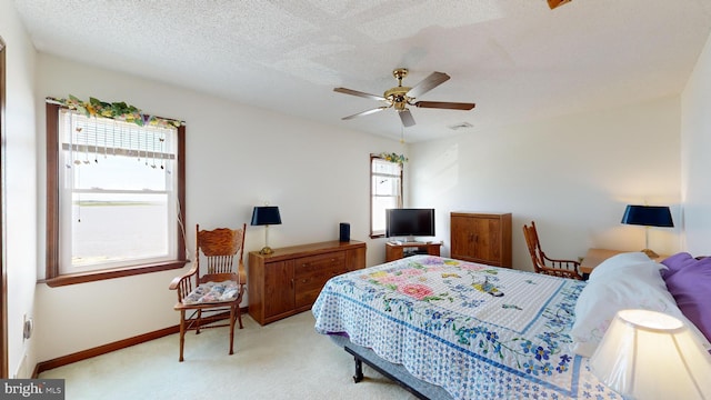
[[[59,204],[59,111],[60,104],[46,104],[47,112],[47,254],[46,276],[41,282],[49,287],[93,282],[104,279],[131,277],[142,273],[180,269],[186,266],[186,240],[180,221],[177,221],[178,257],[176,260],[137,264],[116,269],[93,270],[77,273],[60,273],[59,232],[60,232],[60,204]],[[176,169],[178,187],[178,210],[184,221],[186,218],[186,127],[181,124],[177,132],[178,148],[176,154]]]

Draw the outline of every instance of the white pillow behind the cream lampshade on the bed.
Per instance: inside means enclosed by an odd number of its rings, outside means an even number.
[[[683,316],[674,298],[667,290],[667,284],[660,274],[660,270],[664,269],[664,266],[649,258],[647,261],[640,262],[640,258],[635,256],[625,256],[613,260],[610,266],[612,267],[603,268],[594,279],[591,274],[588,284],[578,298],[575,322],[570,331],[573,352],[591,357],[614,314],[623,309],[653,310],[675,317],[697,334],[705,349],[711,349],[711,343]],[[597,267],[593,273],[600,267],[604,267],[603,263]]]

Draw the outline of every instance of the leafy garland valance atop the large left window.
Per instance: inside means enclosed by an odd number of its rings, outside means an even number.
[[[92,97],[89,98],[89,101],[83,101],[71,94],[69,94],[68,99],[48,97],[47,101],[58,103],[70,110],[77,110],[87,117],[111,118],[129,123],[136,123],[139,127],[153,126],[168,128],[184,124],[184,121],[144,114],[140,109],[134,106],[127,104],[123,101],[107,102]]]

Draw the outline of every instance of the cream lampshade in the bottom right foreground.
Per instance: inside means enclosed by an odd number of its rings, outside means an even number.
[[[634,399],[711,399],[711,356],[687,326],[665,313],[619,311],[590,368]]]

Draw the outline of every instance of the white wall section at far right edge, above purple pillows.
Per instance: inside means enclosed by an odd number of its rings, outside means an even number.
[[[681,97],[682,200],[685,249],[709,256],[711,239],[711,37]]]

